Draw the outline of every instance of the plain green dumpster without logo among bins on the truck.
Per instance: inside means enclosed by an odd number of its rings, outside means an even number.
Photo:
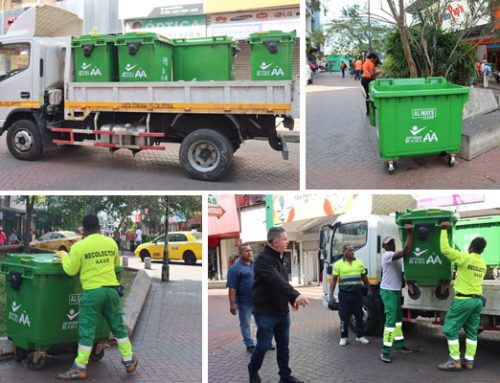
[[[227,36],[175,39],[175,81],[230,81],[238,44]]]

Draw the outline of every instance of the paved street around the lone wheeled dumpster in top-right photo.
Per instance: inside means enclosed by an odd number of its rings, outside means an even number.
[[[319,73],[306,88],[307,189],[498,189],[500,148],[449,168],[439,155],[397,160],[389,175],[359,81]]]

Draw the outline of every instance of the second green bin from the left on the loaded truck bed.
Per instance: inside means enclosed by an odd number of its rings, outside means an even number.
[[[116,37],[120,81],[172,81],[173,41],[151,32]]]

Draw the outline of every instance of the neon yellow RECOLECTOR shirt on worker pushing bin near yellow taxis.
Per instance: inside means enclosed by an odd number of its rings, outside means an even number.
[[[84,290],[102,286],[118,286],[115,266],[120,264],[120,253],[116,242],[101,234],[91,234],[71,246],[71,252],[62,258],[66,274],[80,272]]]

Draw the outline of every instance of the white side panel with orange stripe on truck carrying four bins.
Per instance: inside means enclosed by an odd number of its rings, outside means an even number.
[[[66,83],[66,120],[92,112],[287,115],[292,81]]]

